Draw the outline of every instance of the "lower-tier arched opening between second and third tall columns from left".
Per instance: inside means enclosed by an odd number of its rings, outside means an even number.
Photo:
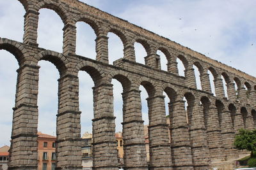
[[[86,73],[84,73],[86,72]],[[82,165],[83,168],[92,168],[93,155],[92,155],[92,120],[95,115],[93,88],[100,81],[101,76],[99,71],[94,67],[84,66],[78,73],[79,78],[79,110],[81,111],[81,152],[82,152]]]

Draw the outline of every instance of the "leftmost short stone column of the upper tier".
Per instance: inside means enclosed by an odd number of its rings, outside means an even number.
[[[36,45],[38,17],[37,11],[28,10],[24,15],[24,36],[23,42],[29,45]]]

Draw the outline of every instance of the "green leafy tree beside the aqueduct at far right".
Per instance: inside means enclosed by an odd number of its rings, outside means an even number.
[[[239,129],[239,132],[236,134],[234,145],[238,150],[250,151],[251,157],[253,157],[253,152],[256,151],[256,129],[252,131]]]

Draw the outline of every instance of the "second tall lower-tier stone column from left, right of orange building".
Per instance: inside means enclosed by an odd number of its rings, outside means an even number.
[[[81,170],[83,167],[78,78],[67,74],[58,81],[56,169]]]

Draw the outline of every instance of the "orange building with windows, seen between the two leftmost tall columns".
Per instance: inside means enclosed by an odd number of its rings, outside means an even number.
[[[56,137],[38,132],[38,169],[52,170],[56,167]]]

